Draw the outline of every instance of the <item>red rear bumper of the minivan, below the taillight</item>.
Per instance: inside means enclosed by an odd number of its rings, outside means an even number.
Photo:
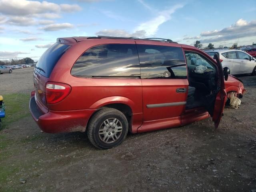
[[[42,113],[38,110],[38,105],[34,97],[30,99],[30,113],[40,127],[46,133],[62,132],[84,132],[90,116],[96,110],[76,110],[76,111],[52,111]]]

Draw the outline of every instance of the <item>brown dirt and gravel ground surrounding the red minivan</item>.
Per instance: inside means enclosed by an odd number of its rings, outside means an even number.
[[[29,94],[32,70],[1,74],[0,93]],[[85,133],[41,133],[20,118],[0,131],[0,191],[255,192],[256,76],[239,78],[248,92],[239,109],[225,108],[218,130],[209,118],[129,134],[109,150]]]

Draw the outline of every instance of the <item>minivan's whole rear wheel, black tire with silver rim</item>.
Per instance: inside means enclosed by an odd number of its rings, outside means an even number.
[[[99,149],[120,145],[128,133],[128,121],[119,110],[103,108],[88,123],[88,138]]]

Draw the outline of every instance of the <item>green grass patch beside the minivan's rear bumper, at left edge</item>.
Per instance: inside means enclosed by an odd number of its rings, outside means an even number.
[[[2,118],[2,129],[21,118],[29,116],[29,94],[13,93],[3,95],[6,106],[5,118]]]

